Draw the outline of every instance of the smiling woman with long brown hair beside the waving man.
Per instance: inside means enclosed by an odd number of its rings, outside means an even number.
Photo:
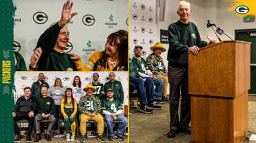
[[[105,50],[94,52],[85,71],[118,71],[128,70],[128,32],[118,30],[110,34],[105,44]]]

